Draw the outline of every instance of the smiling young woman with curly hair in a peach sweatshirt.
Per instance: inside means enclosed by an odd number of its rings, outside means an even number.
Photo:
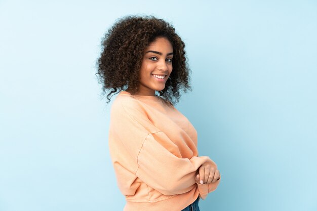
[[[190,89],[184,43],[153,16],[118,20],[102,40],[98,76],[117,94],[109,149],[125,211],[199,210],[220,182],[216,163],[199,156],[197,133],[175,107]],[[108,103],[107,102],[107,103]]]

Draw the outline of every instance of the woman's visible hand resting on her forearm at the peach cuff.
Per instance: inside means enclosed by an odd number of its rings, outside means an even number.
[[[196,175],[195,180],[199,184],[215,183],[220,179],[219,170],[209,164],[202,164],[197,171],[199,174]]]

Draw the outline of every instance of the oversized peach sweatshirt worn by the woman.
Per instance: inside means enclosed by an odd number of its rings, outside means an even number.
[[[159,96],[121,91],[110,113],[109,150],[117,185],[126,196],[124,211],[180,211],[205,199],[220,180],[195,182],[203,163],[197,133],[188,119]]]

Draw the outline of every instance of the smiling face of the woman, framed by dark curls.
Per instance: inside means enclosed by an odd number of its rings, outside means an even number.
[[[165,88],[173,66],[173,46],[165,37],[157,37],[145,49],[141,69],[138,95],[155,95]]]

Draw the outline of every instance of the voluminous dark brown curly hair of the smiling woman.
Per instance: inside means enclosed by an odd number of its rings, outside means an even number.
[[[191,91],[191,70],[187,64],[185,44],[175,33],[175,28],[154,16],[126,16],[118,19],[102,38],[102,52],[96,62],[96,75],[103,85],[103,94],[110,91],[107,103],[113,95],[128,87],[131,95],[138,92],[143,52],[157,37],[165,37],[170,41],[174,57],[173,70],[164,90],[156,92],[161,99],[173,105],[179,101],[181,89],[185,93]]]

